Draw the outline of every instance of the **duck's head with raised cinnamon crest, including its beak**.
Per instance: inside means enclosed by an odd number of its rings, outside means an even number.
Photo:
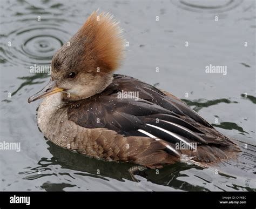
[[[93,12],[77,33],[53,56],[51,79],[28,102],[62,92],[63,100],[79,100],[102,92],[123,58],[122,29],[109,14]]]

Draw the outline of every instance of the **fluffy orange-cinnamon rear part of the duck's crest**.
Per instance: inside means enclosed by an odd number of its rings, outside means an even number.
[[[124,56],[124,39],[121,33],[122,29],[113,16],[104,12],[98,15],[97,10],[78,31],[78,37],[86,37],[86,56],[95,56],[99,67],[103,66],[104,71],[111,72],[118,68]]]

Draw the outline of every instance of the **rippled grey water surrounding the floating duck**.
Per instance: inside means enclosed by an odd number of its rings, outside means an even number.
[[[129,41],[117,73],[184,99],[217,130],[237,139],[242,150],[237,160],[207,169],[170,165],[159,174],[146,171],[135,183],[127,173],[132,164],[84,157],[43,137],[36,125],[41,101],[28,104],[27,99],[49,76],[30,73],[30,67],[49,65],[55,51],[97,8],[120,21]],[[254,1],[1,1],[0,137],[20,142],[21,152],[0,151],[0,189],[255,190],[255,28]],[[205,73],[210,64],[226,65],[227,75]]]

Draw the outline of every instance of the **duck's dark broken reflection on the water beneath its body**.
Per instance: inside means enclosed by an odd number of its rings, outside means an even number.
[[[46,143],[49,145],[48,150],[52,154],[52,158],[41,158],[37,163],[37,167],[29,167],[30,171],[20,173],[25,174],[23,179],[34,180],[46,176],[64,175],[69,176],[70,179],[76,179],[76,175],[80,175],[84,176],[84,178],[90,176],[104,180],[110,180],[110,178],[119,181],[124,181],[125,179],[132,180],[128,170],[130,167],[135,166],[135,164],[97,160],[76,152],[65,150],[62,147],[53,144],[51,141],[47,141]],[[56,166],[60,166],[61,169],[56,169]],[[159,170],[148,169],[143,173],[143,177],[154,184],[183,189],[186,186],[191,187],[191,185],[184,183],[177,178],[183,176],[180,174],[180,171],[192,167],[196,166],[177,163],[165,166]],[[198,167],[196,168],[201,169]],[[70,170],[70,172],[67,170]],[[55,187],[56,185],[57,188]],[[75,185],[73,185],[72,182],[68,185],[68,187],[73,186]],[[47,185],[44,183],[41,188],[44,188],[46,191],[57,191],[58,188],[63,190],[63,184],[51,184],[47,182]]]

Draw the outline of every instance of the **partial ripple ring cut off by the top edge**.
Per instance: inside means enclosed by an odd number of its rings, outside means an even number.
[[[179,8],[194,11],[194,12],[208,12],[208,13],[220,13],[232,10],[242,3],[242,0],[172,0],[172,3]]]

